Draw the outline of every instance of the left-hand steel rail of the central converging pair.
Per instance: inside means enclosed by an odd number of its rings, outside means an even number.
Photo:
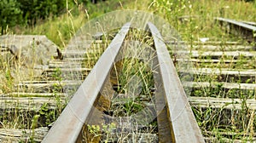
[[[106,77],[113,67],[114,60],[119,53],[125,36],[129,31],[130,23],[125,24],[119,31],[108,49],[97,61],[84,83],[81,84],[66,108],[61,112],[43,142],[76,142],[81,129],[88,117],[93,104],[100,93]]]

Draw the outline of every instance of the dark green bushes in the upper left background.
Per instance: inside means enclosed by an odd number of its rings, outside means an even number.
[[[88,3],[88,0],[1,0],[0,26],[3,31],[7,26],[16,25],[34,26],[38,20],[46,20],[64,14],[67,9],[73,9],[79,14],[79,5]]]

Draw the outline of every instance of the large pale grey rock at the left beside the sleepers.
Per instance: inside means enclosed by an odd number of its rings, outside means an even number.
[[[47,65],[58,49],[47,37],[38,35],[2,36],[0,46],[9,49],[26,66]]]

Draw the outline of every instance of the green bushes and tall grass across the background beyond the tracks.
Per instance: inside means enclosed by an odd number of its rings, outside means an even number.
[[[217,41],[230,39],[230,35],[214,25],[213,17],[256,20],[256,1],[247,1],[108,0],[93,4],[89,0],[2,0],[0,27],[2,34],[46,35],[63,48],[86,20],[116,9],[139,9],[168,20],[186,41],[199,37]],[[182,16],[187,16],[183,22]]]

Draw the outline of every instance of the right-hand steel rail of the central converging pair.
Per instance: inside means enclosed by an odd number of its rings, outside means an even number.
[[[172,142],[204,142],[160,31],[150,22],[148,22],[148,29],[154,39],[154,47],[160,66],[160,76],[164,86],[163,94],[165,94],[168,107],[167,114],[172,126],[170,127],[172,129],[170,134],[172,135]]]

